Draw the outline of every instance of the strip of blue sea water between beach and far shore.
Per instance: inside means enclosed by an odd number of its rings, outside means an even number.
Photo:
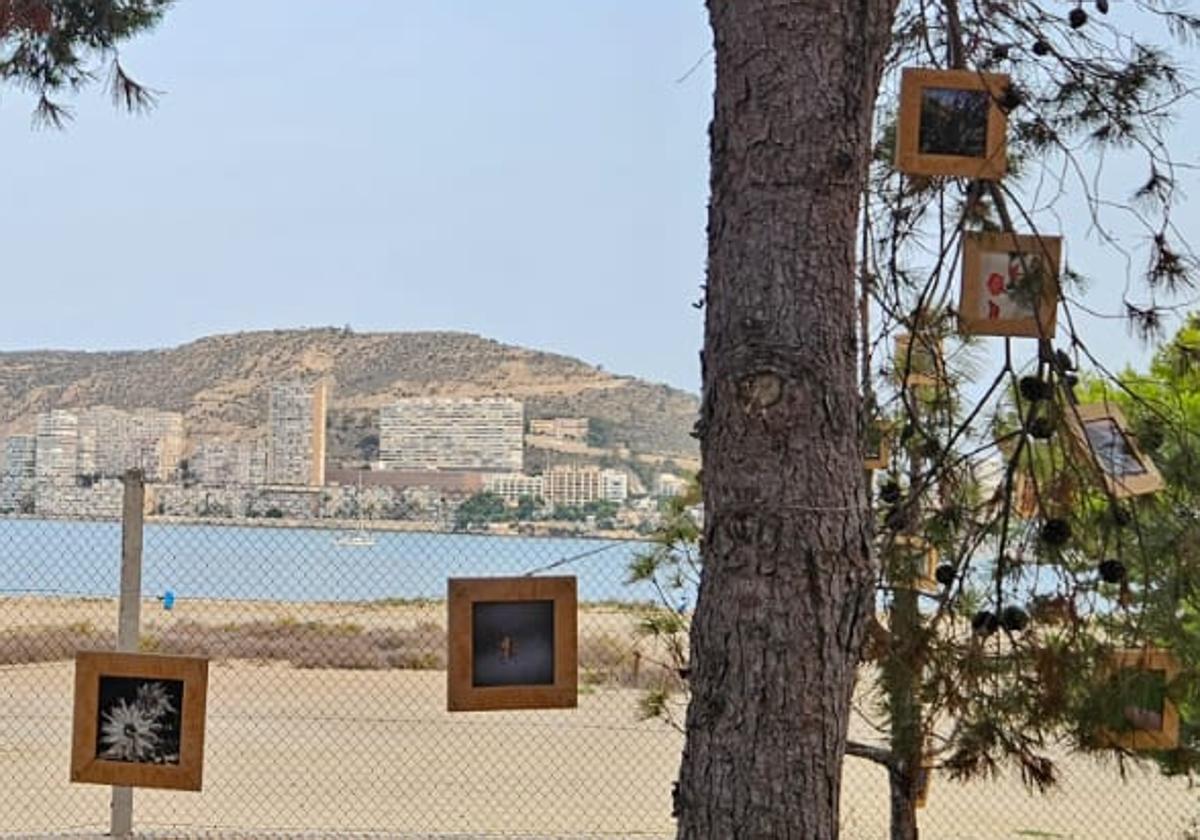
[[[649,544],[583,538],[371,532],[370,546],[337,544],[336,528],[148,523],[142,589],[188,598],[269,601],[442,599],[449,577],[572,575],[582,601],[652,601],[628,583]],[[0,596],[115,596],[121,526],[0,517]],[[668,595],[689,607],[695,592]]]

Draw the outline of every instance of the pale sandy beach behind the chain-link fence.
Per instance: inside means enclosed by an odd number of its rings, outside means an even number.
[[[115,604],[104,599],[7,599],[0,607],[0,640],[8,646],[55,635],[73,642],[84,630],[98,637],[115,625]],[[342,626],[347,640],[420,628],[431,644],[444,643],[439,602],[187,602],[167,612],[146,601],[143,608],[148,638],[170,638],[181,626],[236,636],[246,625],[290,631],[308,624]],[[581,612],[581,655],[588,638],[608,646],[612,670],[584,680],[570,710],[450,714],[438,668],[215,659],[204,790],[138,791],[137,826],[162,836],[670,836],[682,737],[661,721],[637,720],[640,691],[619,671],[628,668],[634,620],[617,608]],[[0,832],[107,828],[108,790],[67,781],[71,694],[66,659],[0,667]],[[860,721],[852,731],[869,734]],[[1064,757],[1061,767],[1063,786],[1045,797],[1010,776],[959,785],[935,775],[922,836],[1168,840],[1184,838],[1200,815],[1186,782],[1152,769],[1135,767],[1122,782],[1114,763]],[[887,786],[875,766],[847,760],[842,822],[845,838],[886,836]]]

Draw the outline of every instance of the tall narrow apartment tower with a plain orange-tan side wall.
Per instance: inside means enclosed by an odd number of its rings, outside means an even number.
[[[325,382],[271,385],[266,407],[266,484],[325,484]]]

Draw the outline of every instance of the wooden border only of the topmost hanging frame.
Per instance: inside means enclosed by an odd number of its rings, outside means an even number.
[[[997,100],[1009,78],[1002,73],[971,70],[906,67],[900,77],[900,114],[896,122],[895,167],[910,175],[946,175],[998,181],[1008,173],[1008,115]],[[930,155],[920,151],[920,104],[926,88],[982,90],[990,95],[988,137],[983,157]]]

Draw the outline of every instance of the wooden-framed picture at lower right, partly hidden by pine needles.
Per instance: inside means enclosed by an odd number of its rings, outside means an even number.
[[[1123,727],[1100,730],[1100,739],[1124,750],[1172,750],[1180,744],[1180,710],[1168,686],[1180,674],[1175,656],[1162,648],[1115,650],[1102,668],[1108,680],[1122,680],[1130,702],[1121,708]]]

